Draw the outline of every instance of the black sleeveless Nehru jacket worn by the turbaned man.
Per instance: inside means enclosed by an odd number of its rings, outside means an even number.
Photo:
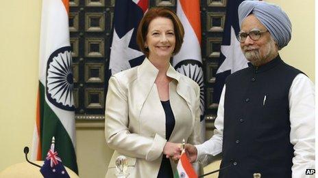
[[[291,177],[289,89],[301,71],[278,55],[225,80],[222,166],[219,177]]]

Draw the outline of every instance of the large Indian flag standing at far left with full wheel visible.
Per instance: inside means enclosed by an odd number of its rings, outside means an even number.
[[[42,0],[39,85],[32,159],[45,160],[56,138],[63,164],[78,173],[75,155],[69,0]]]

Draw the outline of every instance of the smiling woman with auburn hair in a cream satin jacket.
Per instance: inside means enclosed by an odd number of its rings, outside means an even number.
[[[115,162],[125,155],[129,177],[173,177],[182,138],[199,142],[199,86],[176,72],[169,61],[180,51],[184,29],[174,12],[152,8],[140,21],[137,43],[143,63],[114,74],[106,97],[105,133]]]

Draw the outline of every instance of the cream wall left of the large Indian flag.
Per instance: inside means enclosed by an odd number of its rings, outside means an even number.
[[[0,170],[31,146],[38,86],[40,0],[0,5]]]

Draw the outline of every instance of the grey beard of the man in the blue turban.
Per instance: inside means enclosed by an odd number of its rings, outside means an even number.
[[[249,51],[246,51],[246,50],[249,50]],[[269,42],[266,44],[265,50],[266,50],[265,55],[261,56],[260,49],[255,49],[250,46],[244,46],[243,54],[245,55],[247,61],[250,61],[255,66],[259,66],[264,63],[267,63],[268,58],[271,57],[274,53],[276,53],[275,42],[273,38],[271,38]]]

